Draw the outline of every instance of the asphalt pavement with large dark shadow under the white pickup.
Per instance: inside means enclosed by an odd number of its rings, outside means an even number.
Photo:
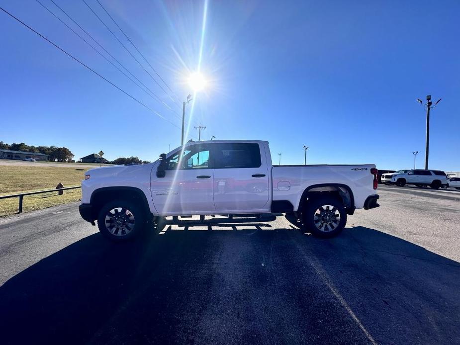
[[[332,240],[285,217],[122,245],[76,204],[2,219],[0,342],[458,344],[460,193],[379,193]]]

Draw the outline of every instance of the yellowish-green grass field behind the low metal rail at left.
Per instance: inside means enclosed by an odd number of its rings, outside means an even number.
[[[61,182],[65,187],[81,184],[84,173],[90,168],[0,166],[0,195],[26,191],[54,189]],[[24,196],[22,212],[38,210],[59,204],[79,201],[81,189]],[[19,198],[0,199],[0,216],[17,213]]]

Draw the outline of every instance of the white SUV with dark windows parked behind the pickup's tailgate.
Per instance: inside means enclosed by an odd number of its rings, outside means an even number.
[[[396,173],[382,175],[382,183],[396,184],[402,187],[405,184],[415,184],[418,187],[430,186],[433,189],[447,187],[449,181],[446,173],[440,170],[398,170]]]

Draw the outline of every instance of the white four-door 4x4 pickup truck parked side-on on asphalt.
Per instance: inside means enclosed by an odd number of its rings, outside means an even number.
[[[269,143],[188,142],[156,162],[91,169],[82,181],[83,219],[115,241],[163,217],[295,215],[319,237],[332,237],[357,208],[378,207],[374,165],[272,166]],[[235,217],[235,218],[233,218]]]

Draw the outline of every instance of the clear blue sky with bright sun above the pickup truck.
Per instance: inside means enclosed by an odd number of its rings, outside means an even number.
[[[40,0],[96,48],[50,0]],[[136,58],[96,0],[86,0]],[[155,160],[180,145],[180,103],[196,71],[208,87],[187,108],[188,138],[268,140],[274,162],[413,166],[425,152],[432,94],[430,168],[460,171],[459,1],[100,0],[174,91],[164,92],[81,0],[55,0],[151,88],[146,95],[35,0],[1,6],[170,122],[142,107],[27,28],[0,13],[0,140],[71,149],[78,159]],[[200,46],[202,54],[200,61]],[[102,51],[103,52],[103,51]],[[110,58],[109,58],[110,59]],[[179,103],[179,102],[178,102]],[[191,118],[190,118],[191,116]],[[177,127],[176,127],[177,126]]]

